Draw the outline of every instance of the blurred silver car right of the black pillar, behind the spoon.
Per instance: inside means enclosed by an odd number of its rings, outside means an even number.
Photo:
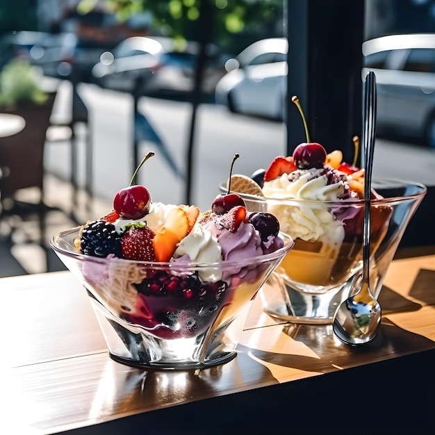
[[[363,76],[376,75],[377,131],[435,147],[435,34],[368,40],[363,55]]]

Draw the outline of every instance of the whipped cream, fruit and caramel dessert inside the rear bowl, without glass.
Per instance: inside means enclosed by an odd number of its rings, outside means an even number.
[[[300,110],[297,97],[293,101]],[[288,279],[296,288],[300,284],[322,293],[343,284],[361,265],[364,170],[343,162],[341,151],[327,154],[322,145],[310,142],[307,129],[306,136],[292,156],[274,158],[254,195],[295,240],[281,263]],[[243,192],[240,176],[232,177],[233,190]],[[380,195],[373,190],[372,197]],[[391,207],[372,206],[372,252],[386,234],[391,213]]]

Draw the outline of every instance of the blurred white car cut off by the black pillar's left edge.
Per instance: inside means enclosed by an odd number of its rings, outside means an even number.
[[[227,60],[225,74],[217,82],[215,103],[234,113],[284,119],[287,94],[286,38],[267,38],[249,45]]]

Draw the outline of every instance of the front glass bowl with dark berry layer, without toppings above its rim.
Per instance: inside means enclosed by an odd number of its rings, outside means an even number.
[[[80,228],[51,238],[87,290],[110,356],[140,368],[188,369],[236,356],[252,299],[293,247],[220,263],[97,258],[76,251]]]

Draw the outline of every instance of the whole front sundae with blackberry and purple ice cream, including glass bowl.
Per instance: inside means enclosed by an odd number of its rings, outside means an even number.
[[[66,238],[55,236],[52,246],[73,272],[79,261],[79,277],[126,348],[112,354],[127,352],[124,357],[138,364],[186,365],[174,344],[162,351],[159,340],[190,340],[184,345],[195,347],[188,358],[194,365],[232,354],[227,327],[293,240],[279,232],[274,215],[248,212],[230,191],[217,195],[204,213],[197,206],[153,202],[149,190],[134,183],[138,169],[115,195],[112,211]],[[199,355],[203,345],[211,350]]]

